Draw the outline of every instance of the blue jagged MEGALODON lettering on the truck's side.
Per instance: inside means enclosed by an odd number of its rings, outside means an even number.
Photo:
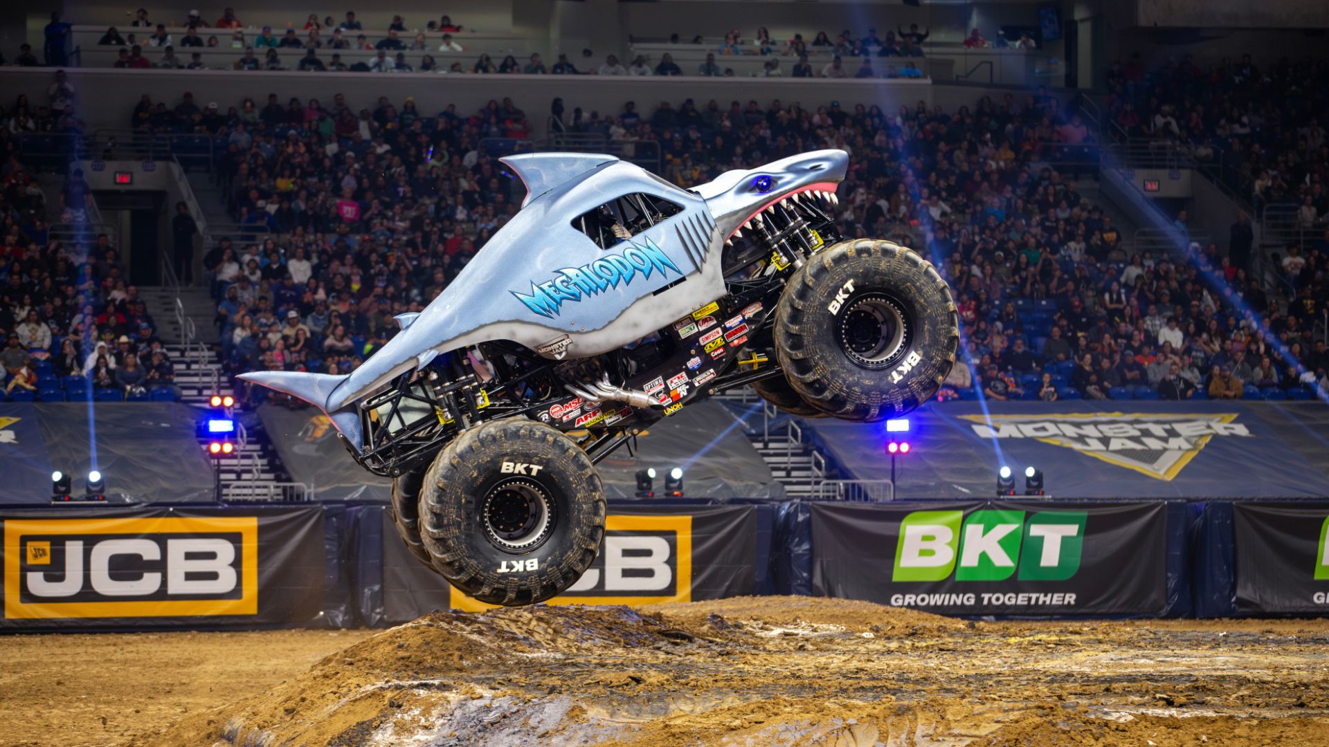
[[[649,279],[653,272],[667,278],[671,270],[675,275],[683,275],[683,271],[674,265],[664,250],[646,239],[642,243],[629,242],[623,251],[606,254],[589,265],[558,270],[558,274],[549,280],[540,283],[532,280],[530,295],[517,291],[509,292],[526,304],[526,308],[553,319],[558,316],[565,300],[582,300],[599,295],[610,288],[617,288],[619,283],[625,287],[630,286],[638,274],[643,279]]]

